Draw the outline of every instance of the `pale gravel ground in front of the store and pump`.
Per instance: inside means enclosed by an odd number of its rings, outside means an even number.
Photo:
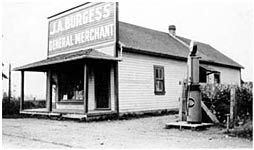
[[[130,120],[76,122],[3,119],[3,148],[252,148],[252,141],[223,129],[165,129],[176,115]]]

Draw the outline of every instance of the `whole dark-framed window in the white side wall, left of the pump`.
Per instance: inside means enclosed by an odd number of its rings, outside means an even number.
[[[165,78],[163,66],[154,66],[154,93],[155,95],[165,94]]]

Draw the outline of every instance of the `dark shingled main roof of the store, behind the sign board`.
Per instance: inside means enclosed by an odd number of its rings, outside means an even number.
[[[175,56],[187,60],[190,40],[180,36],[172,37],[166,32],[156,31],[124,22],[119,22],[119,41],[133,52],[145,51]],[[197,42],[201,63],[212,63],[229,67],[243,68],[208,44]]]

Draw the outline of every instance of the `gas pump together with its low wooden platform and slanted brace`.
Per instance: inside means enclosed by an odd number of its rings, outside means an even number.
[[[189,47],[189,55],[187,61],[187,82],[184,81],[183,92],[180,99],[179,118],[177,122],[166,123],[166,128],[179,127],[180,130],[184,128],[204,128],[212,126],[212,123],[202,122],[202,108],[205,109],[206,113],[208,108],[201,103],[201,92],[199,84],[199,59],[197,56],[197,44],[191,41]],[[202,105],[201,105],[202,104]],[[209,113],[211,118],[212,113]],[[216,117],[212,117],[213,121],[216,121]],[[215,120],[215,119],[216,120]]]

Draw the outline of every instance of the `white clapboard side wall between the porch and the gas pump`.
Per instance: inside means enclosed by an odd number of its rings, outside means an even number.
[[[119,62],[120,112],[178,108],[186,64],[141,54],[123,53]],[[154,94],[154,65],[164,66],[165,95]]]

